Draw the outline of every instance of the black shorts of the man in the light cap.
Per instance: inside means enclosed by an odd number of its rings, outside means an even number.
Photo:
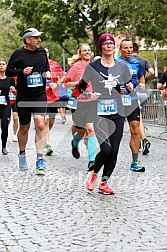
[[[17,95],[16,108],[20,125],[31,122],[31,115],[45,116],[47,109],[47,96],[45,93],[34,96]]]

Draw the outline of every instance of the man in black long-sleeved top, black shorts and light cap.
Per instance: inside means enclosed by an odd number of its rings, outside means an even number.
[[[46,78],[51,78],[46,51],[40,46],[41,34],[42,32],[35,28],[25,30],[23,34],[25,46],[13,52],[6,71],[8,76],[17,76],[16,104],[20,121],[18,131],[19,167],[21,170],[28,168],[25,150],[31,115],[33,114],[38,174],[44,174],[46,168],[43,159],[45,145],[44,115],[47,107],[45,87]]]

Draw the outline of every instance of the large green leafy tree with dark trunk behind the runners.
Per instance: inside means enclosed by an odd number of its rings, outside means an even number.
[[[114,35],[128,31],[131,38],[139,36],[160,45],[166,43],[167,0],[0,0],[20,20],[21,34],[27,27],[45,32],[47,41],[58,43],[68,55],[76,52],[76,45],[89,41],[95,54],[98,34],[107,31]]]

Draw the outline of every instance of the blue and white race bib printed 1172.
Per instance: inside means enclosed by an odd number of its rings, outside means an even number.
[[[98,100],[97,114],[98,115],[113,115],[117,113],[116,99]]]

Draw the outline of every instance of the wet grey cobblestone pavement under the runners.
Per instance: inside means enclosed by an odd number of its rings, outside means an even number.
[[[54,153],[47,174],[34,174],[34,129],[28,142],[29,170],[18,170],[18,145],[9,137],[9,155],[0,154],[0,252],[167,251],[166,141],[149,138],[150,154],[140,159],[145,173],[129,171],[131,152],[125,127],[111,177],[116,194],[84,187],[87,151],[71,155],[71,116],[58,116],[52,130]]]

